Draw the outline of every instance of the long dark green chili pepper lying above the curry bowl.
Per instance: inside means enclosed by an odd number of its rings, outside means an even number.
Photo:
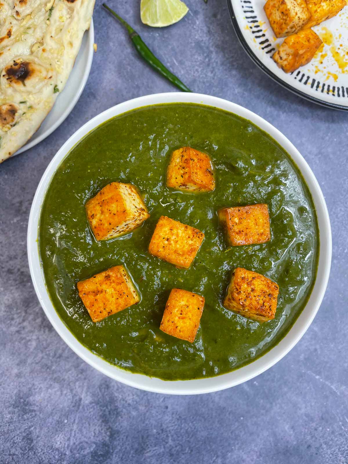
[[[117,13],[115,13],[109,6],[103,3],[104,8],[110,11],[116,19],[126,27],[129,37],[135,46],[136,51],[139,55],[150,65],[152,66],[155,71],[159,72],[162,76],[166,77],[172,84],[176,85],[180,90],[183,92],[191,92],[190,89],[183,84],[180,79],[174,74],[172,74],[165,66],[161,63],[161,61],[155,57],[155,55],[149,50],[148,46],[142,41],[140,35],[133,29],[133,27],[129,26],[128,23],[124,19],[121,18]]]

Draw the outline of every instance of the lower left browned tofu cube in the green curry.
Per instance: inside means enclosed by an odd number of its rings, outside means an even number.
[[[77,282],[81,300],[93,322],[139,303],[140,298],[124,266],[114,266]]]

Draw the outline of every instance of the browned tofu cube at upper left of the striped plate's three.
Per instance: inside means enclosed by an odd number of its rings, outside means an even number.
[[[276,37],[299,31],[310,17],[305,0],[267,0],[264,12]]]

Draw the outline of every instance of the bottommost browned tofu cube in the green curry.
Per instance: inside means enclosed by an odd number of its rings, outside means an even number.
[[[160,329],[173,337],[193,342],[200,325],[205,299],[197,293],[173,289],[164,310]]]

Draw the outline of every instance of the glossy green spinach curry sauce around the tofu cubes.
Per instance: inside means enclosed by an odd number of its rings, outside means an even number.
[[[165,186],[170,154],[182,146],[211,156],[216,179],[212,193],[175,192]],[[84,204],[117,180],[140,189],[151,217],[127,236],[97,242]],[[255,203],[269,206],[271,241],[227,248],[217,210]],[[190,269],[178,269],[148,253],[161,215],[205,233]],[[313,288],[319,233],[307,185],[269,135],[232,113],[172,103],[110,119],[71,150],[42,205],[39,249],[52,302],[79,342],[132,372],[185,380],[244,366],[284,337]],[[93,323],[76,284],[118,264],[127,266],[141,302]],[[222,306],[231,271],[238,266],[277,282],[274,320],[254,322]],[[159,329],[172,288],[206,299],[193,343]]]

